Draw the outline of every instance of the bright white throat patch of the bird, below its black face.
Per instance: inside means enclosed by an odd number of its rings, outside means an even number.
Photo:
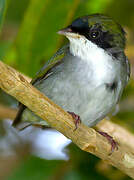
[[[109,80],[114,78],[113,71],[115,71],[116,63],[104,49],[87,40],[84,36],[79,38],[68,36],[68,39],[70,41],[71,54],[86,62],[93,72],[92,78],[95,81],[100,81],[100,83],[101,81],[109,82]]]

